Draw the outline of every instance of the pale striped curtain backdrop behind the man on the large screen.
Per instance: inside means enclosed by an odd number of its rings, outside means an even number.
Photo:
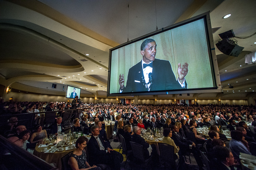
[[[214,87],[204,19],[148,38],[156,41],[156,58],[170,61],[176,79],[178,63],[189,64],[185,77],[188,89]],[[145,39],[112,51],[110,93],[119,93],[120,74],[124,74],[126,85],[129,69],[142,60],[140,45]]]

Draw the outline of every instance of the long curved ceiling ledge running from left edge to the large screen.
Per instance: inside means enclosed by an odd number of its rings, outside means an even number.
[[[58,41],[55,41],[54,39],[51,39],[48,36],[45,36],[41,33],[38,33],[38,32],[36,32],[32,29],[29,29],[29,28],[26,28],[26,27],[23,27],[23,26],[14,25],[14,24],[6,24],[6,23],[0,23],[0,29],[12,30],[12,31],[16,31],[16,32],[19,32],[19,33],[22,33],[22,34],[26,33],[28,36],[31,36],[32,38],[35,38],[35,39],[37,39],[37,40],[39,40],[43,43],[46,43],[50,46],[53,46],[54,48],[57,48],[57,49],[61,50],[64,53],[67,53],[72,58],[74,58],[73,55],[78,55],[78,56],[81,56],[81,57],[85,58],[86,60],[88,60],[90,62],[93,62],[93,63],[99,65],[100,67],[108,69],[108,67],[106,67],[105,65],[87,57],[86,55],[81,54],[80,52],[77,52],[76,50],[74,50],[72,48],[69,48],[68,46],[66,46],[66,45],[64,45],[64,44],[62,44]],[[74,59],[76,59],[76,58],[74,58]],[[80,60],[77,60],[77,61],[80,62]],[[79,70],[79,71],[75,71],[75,72],[80,72],[80,71],[83,71],[83,70]]]

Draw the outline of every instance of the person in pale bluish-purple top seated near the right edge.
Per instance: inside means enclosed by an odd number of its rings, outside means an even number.
[[[244,140],[243,133],[237,130],[233,130],[230,134],[232,139],[229,143],[229,148],[231,149],[235,160],[240,160],[240,153],[246,153],[251,155],[248,142]]]

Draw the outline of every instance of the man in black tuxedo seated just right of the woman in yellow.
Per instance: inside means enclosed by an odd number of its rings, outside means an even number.
[[[197,162],[197,165],[199,166],[199,170],[202,170],[202,167],[204,167],[202,160],[200,158],[200,152],[199,149],[195,147],[195,143],[192,141],[189,141],[187,139],[184,139],[181,134],[178,132],[177,126],[173,125],[171,127],[172,132],[172,137],[174,143],[176,146],[180,148],[180,151],[182,155],[186,155],[187,151],[191,149],[191,152],[193,153],[195,160]]]

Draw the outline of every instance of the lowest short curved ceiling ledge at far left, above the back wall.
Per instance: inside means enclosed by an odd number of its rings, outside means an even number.
[[[26,75],[17,76],[6,80],[5,85],[9,87],[12,83],[17,81],[43,81],[43,80],[60,80],[60,77],[50,76],[50,75]]]

